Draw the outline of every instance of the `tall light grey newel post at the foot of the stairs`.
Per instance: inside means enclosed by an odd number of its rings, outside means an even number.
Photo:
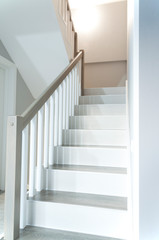
[[[4,216],[6,240],[15,240],[19,236],[22,123],[22,117],[8,117]]]

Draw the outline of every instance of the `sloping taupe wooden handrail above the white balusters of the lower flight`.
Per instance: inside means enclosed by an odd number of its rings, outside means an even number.
[[[62,83],[62,81],[67,77],[67,75],[71,72],[77,62],[83,59],[83,51],[80,51],[77,56],[73,59],[73,61],[69,64],[68,67],[55,79],[55,81],[50,84],[50,86],[42,93],[42,95],[35,100],[30,107],[21,115],[23,118],[23,126],[24,129],[27,124],[31,121],[31,119],[36,115],[39,109],[45,104],[45,102],[49,99],[49,97],[55,92],[58,86]],[[82,84],[83,86],[83,84]]]

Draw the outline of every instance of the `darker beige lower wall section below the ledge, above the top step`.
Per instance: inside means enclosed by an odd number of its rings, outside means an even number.
[[[125,86],[127,62],[86,63],[84,88]]]

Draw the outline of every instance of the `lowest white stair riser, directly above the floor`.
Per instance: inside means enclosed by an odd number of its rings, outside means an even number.
[[[27,201],[27,225],[128,239],[127,211]]]

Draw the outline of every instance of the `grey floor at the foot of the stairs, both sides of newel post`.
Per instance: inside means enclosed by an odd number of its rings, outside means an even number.
[[[4,230],[4,193],[0,192],[0,236]],[[0,238],[1,239],[1,238]],[[26,227],[20,231],[18,240],[115,240],[81,233],[72,233],[37,227]]]

